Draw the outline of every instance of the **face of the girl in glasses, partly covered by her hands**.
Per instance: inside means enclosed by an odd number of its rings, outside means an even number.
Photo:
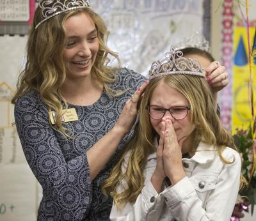
[[[182,93],[179,93],[179,91],[162,81],[154,89],[150,99],[150,105],[170,109],[171,107],[189,107],[189,102]],[[151,125],[159,135],[161,131],[165,130],[165,128],[161,128],[161,121],[164,121],[166,118],[171,119],[178,141],[183,138],[188,139],[189,135],[195,130],[195,125],[190,121],[190,110],[188,110],[188,115],[184,119],[175,119],[170,114],[170,111],[166,110],[161,119],[150,117]]]

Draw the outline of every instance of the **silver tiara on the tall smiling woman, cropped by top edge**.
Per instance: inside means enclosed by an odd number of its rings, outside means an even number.
[[[62,12],[78,8],[91,8],[89,0],[41,0],[39,7],[42,9],[44,19],[36,25],[36,29],[40,24],[45,22],[45,20]]]

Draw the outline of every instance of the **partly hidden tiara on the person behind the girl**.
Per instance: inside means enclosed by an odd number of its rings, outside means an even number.
[[[210,51],[209,42],[205,39],[204,35],[196,31],[195,34],[184,38],[184,40],[175,45],[176,50],[186,49],[188,47],[193,47],[196,49],[201,49],[206,52]]]

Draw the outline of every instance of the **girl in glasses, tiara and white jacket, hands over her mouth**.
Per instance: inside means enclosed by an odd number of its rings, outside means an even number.
[[[111,220],[230,220],[241,159],[198,61],[153,63],[140,121],[105,181]]]

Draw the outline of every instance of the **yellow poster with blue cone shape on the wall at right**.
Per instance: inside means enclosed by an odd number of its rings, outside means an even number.
[[[250,26],[250,45],[253,45],[255,22]],[[239,23],[234,28],[233,41],[233,105],[232,105],[232,133],[236,128],[246,129],[252,121],[251,101],[249,94],[250,66],[248,62],[248,37],[246,26]],[[252,50],[252,49],[251,49]],[[256,107],[256,60],[251,57],[253,73],[253,107]]]

